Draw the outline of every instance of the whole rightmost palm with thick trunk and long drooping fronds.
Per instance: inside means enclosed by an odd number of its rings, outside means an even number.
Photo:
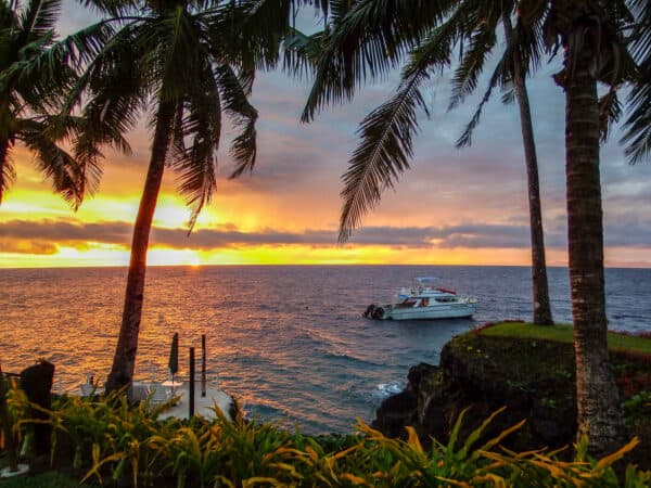
[[[419,130],[417,110],[426,113],[420,89],[432,72],[449,68],[455,48],[461,49],[455,87],[459,100],[476,87],[485,55],[495,48],[499,23],[515,12],[513,34],[519,38],[507,43],[490,86],[505,85],[505,75],[528,74],[542,48],[551,54],[563,52],[564,68],[556,80],[566,95],[569,267],[578,422],[595,452],[610,449],[622,440],[623,424],[605,342],[599,140],[608,127],[608,117],[601,115],[616,115],[616,89],[634,74],[622,27],[633,18],[627,4],[635,2],[437,1],[423,10],[417,9],[420,2],[409,0],[345,3],[332,8],[332,34],[316,60],[304,119],[327,104],[352,98],[367,78],[376,78],[398,64],[406,51],[407,61],[394,97],[360,125],[361,142],[344,176],[343,239],[379,202],[381,191],[393,187],[409,167],[412,137]],[[521,61],[520,69],[514,69],[514,59]],[[601,111],[598,82],[611,87]]]

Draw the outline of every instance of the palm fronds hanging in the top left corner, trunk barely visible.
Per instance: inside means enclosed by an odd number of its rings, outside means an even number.
[[[93,190],[101,168],[97,144],[81,138],[85,120],[60,114],[75,81],[64,50],[55,44],[60,0],[0,0],[0,202],[15,181],[12,153],[23,142],[54,190],[76,208]],[[58,145],[72,142],[75,156]]]

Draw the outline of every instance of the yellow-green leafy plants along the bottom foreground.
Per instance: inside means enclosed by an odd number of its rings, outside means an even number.
[[[163,407],[164,408],[164,407]],[[322,486],[322,487],[642,487],[651,472],[635,466],[617,478],[612,466],[635,448],[634,438],[600,460],[587,454],[587,440],[574,457],[560,451],[512,452],[500,446],[524,423],[487,438],[494,412],[467,438],[460,437],[462,412],[449,441],[427,450],[412,427],[407,439],[385,437],[358,421],[357,434],[308,436],[276,424],[227,421],[220,412],[209,421],[156,420],[161,409],[148,402],[129,408],[118,395],[106,399],[65,398],[50,412],[56,436],[74,438],[82,450],[82,478],[105,478],[131,486],[156,486],[176,479],[179,488]],[[54,447],[56,449],[56,447]],[[72,460],[71,460],[72,461]],[[39,486],[48,485],[43,481]],[[622,485],[623,484],[623,485]],[[22,485],[21,485],[22,486]],[[71,485],[67,480],[60,486]]]

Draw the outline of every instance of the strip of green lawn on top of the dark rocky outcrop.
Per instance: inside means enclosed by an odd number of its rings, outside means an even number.
[[[556,341],[559,343],[573,343],[572,325],[534,325],[528,322],[505,322],[483,329],[486,336],[522,337],[540,341]],[[609,349],[628,350],[642,355],[651,355],[651,338],[634,335],[608,333]]]

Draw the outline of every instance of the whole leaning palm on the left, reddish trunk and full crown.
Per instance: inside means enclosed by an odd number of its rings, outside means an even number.
[[[306,3],[317,3],[305,1]],[[216,189],[222,116],[241,132],[232,141],[231,177],[256,159],[256,110],[250,104],[254,73],[275,66],[292,2],[245,0],[89,1],[105,15],[97,36],[71,40],[85,72],[68,110],[87,98],[88,133],[125,133],[142,113],[153,130],[144,189],[133,227],[119,337],[106,389],[133,377],[144,299],[146,252],[166,167],[192,206],[189,228]]]

